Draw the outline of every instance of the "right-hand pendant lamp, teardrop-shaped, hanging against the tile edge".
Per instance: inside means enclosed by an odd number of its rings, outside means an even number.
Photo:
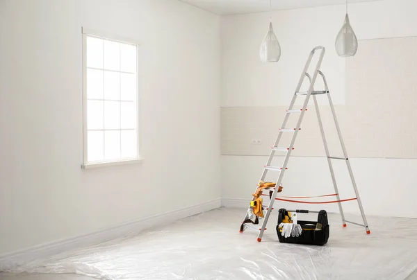
[[[335,46],[336,53],[341,57],[354,56],[358,50],[358,40],[352,26],[350,26],[349,15],[347,14],[347,0],[345,23],[336,37]]]

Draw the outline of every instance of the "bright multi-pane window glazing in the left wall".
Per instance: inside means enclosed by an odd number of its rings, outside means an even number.
[[[137,161],[138,45],[83,34],[83,167]]]

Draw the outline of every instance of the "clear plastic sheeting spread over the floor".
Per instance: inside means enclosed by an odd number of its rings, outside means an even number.
[[[329,215],[327,245],[279,243],[276,216],[261,243],[238,233],[245,209],[215,209],[136,236],[15,268],[13,272],[76,273],[98,279],[416,279],[417,220],[369,218],[341,227]],[[299,219],[316,220],[313,214]],[[347,216],[360,221],[360,216]],[[410,274],[412,274],[410,276]],[[416,277],[416,278],[414,278]]]

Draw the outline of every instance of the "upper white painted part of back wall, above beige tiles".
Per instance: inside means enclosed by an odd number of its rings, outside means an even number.
[[[358,39],[370,40],[417,35],[416,8],[414,0],[384,0],[350,4],[348,11]],[[288,105],[309,52],[318,45],[327,49],[322,71],[334,103],[344,104],[345,59],[334,49],[344,16],[344,5],[273,12],[281,59],[272,64],[259,60],[269,12],[222,17],[222,107]]]

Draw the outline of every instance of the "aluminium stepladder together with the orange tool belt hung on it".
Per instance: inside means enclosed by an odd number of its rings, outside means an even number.
[[[320,136],[322,137],[322,143],[325,148],[325,156],[327,157],[327,164],[329,166],[330,176],[332,178],[332,184],[334,188],[334,193],[331,195],[320,195],[320,197],[327,197],[327,196],[334,196],[336,200],[327,201],[324,203],[337,203],[338,204],[338,211],[340,213],[341,219],[342,219],[342,225],[343,227],[346,227],[347,223],[350,223],[352,225],[358,225],[361,227],[364,227],[366,234],[370,234],[370,229],[368,227],[368,221],[366,220],[365,213],[363,211],[363,206],[361,202],[361,198],[359,196],[359,191],[357,187],[357,183],[355,181],[352,166],[350,164],[349,157],[347,155],[347,150],[345,148],[345,143],[343,141],[341,128],[338,123],[338,119],[336,117],[336,111],[334,109],[334,103],[332,101],[331,92],[329,91],[329,87],[327,85],[327,80],[325,77],[325,74],[320,71],[320,67],[322,64],[322,60],[325,57],[325,47],[324,46],[316,46],[311,53],[309,54],[309,58],[306,61],[306,64],[304,65],[304,69],[301,73],[300,80],[298,81],[297,87],[295,89],[295,92],[293,94],[293,98],[291,100],[291,103],[288,107],[288,110],[286,110],[284,121],[279,128],[277,139],[275,140],[274,145],[271,147],[270,155],[268,157],[268,161],[266,162],[265,166],[263,166],[263,171],[261,174],[261,178],[259,180],[259,184],[256,187],[256,191],[252,194],[252,201],[250,201],[250,206],[247,209],[247,212],[245,214],[245,218],[243,219],[243,222],[240,225],[240,232],[243,232],[247,229],[254,229],[258,232],[257,240],[261,242],[263,234],[265,229],[267,229],[268,219],[270,218],[270,214],[274,209],[277,209],[277,207],[274,208],[274,203],[276,200],[286,201],[286,202],[301,202],[302,201],[294,201],[294,200],[288,200],[285,199],[285,197],[280,198],[277,197],[278,193],[281,193],[283,191],[281,187],[281,182],[284,178],[284,175],[286,173],[286,170],[288,169],[288,161],[291,157],[291,152],[294,150],[295,146],[295,140],[297,139],[297,136],[301,130],[302,121],[304,118],[304,114],[306,114],[306,111],[308,110],[307,107],[309,105],[309,101],[312,98],[313,99],[313,105],[316,109],[316,118],[318,119],[318,126],[320,128]],[[313,67],[313,72],[310,74],[308,73],[311,62],[313,58],[316,59],[316,66]],[[313,65],[312,65],[313,66]],[[322,80],[322,86],[324,86],[324,89],[316,90],[316,80],[318,78],[321,78]],[[309,82],[309,86],[307,91],[301,91],[302,85],[305,82]],[[330,155],[329,152],[329,146],[327,145],[327,139],[325,135],[325,130],[323,127],[322,122],[322,116],[320,115],[320,110],[318,106],[318,96],[327,96],[328,105],[330,107],[330,110],[332,112],[332,118],[334,119],[334,124],[336,127],[336,133],[338,134],[338,140],[340,141],[341,151],[342,155],[339,157]],[[295,103],[297,98],[304,97],[304,102],[302,102],[302,107],[295,107]],[[288,123],[288,120],[291,118],[291,116],[296,115],[298,116],[295,128],[287,128],[286,125]],[[291,141],[289,145],[287,146],[279,146],[281,142],[281,137],[284,133],[291,133]],[[272,161],[275,157],[276,152],[284,152],[284,160],[282,161],[282,164],[279,166],[272,166]],[[349,173],[349,178],[351,181],[351,185],[354,191],[354,198],[341,198],[338,191],[338,183],[336,182],[336,176],[334,173],[334,160],[341,160],[345,161],[345,165],[347,168],[347,171]],[[278,173],[277,181],[275,183],[265,183],[265,177],[267,176],[268,172],[275,172]],[[268,194],[263,194],[263,191],[267,191]],[[261,195],[267,196],[269,198],[268,204],[263,203],[263,199],[261,198]],[[288,198],[288,197],[287,197]],[[362,223],[359,222],[351,222],[349,220],[345,219],[345,214],[343,213],[343,202],[356,200],[359,211],[361,213]],[[295,210],[298,211],[298,210]],[[301,210],[302,212],[308,213],[308,210]]]

